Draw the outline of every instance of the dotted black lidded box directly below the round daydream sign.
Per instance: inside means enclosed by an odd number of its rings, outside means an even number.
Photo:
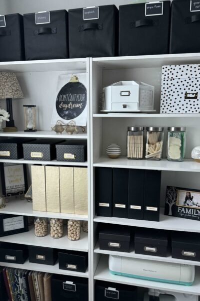
[[[87,141],[70,140],[56,144],[56,160],[66,162],[87,161]]]

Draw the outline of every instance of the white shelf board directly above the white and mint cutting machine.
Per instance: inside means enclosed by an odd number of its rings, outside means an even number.
[[[200,261],[191,261],[191,260],[183,260],[183,259],[176,259],[171,258],[170,256],[167,257],[160,257],[160,256],[150,256],[150,255],[142,255],[142,254],[135,254],[133,247],[130,248],[130,252],[117,252],[111,250],[100,250],[99,249],[99,242],[96,243],[94,248],[94,253],[98,254],[105,254],[105,255],[116,255],[116,256],[123,256],[123,257],[130,257],[130,258],[138,258],[138,259],[147,259],[147,260],[154,260],[154,261],[162,261],[162,262],[170,262],[170,263],[180,263],[180,264],[190,264],[190,265],[199,265]]]

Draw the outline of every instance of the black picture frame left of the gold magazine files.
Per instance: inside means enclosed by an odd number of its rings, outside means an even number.
[[[1,194],[5,197],[26,193],[27,172],[25,164],[0,163]]]

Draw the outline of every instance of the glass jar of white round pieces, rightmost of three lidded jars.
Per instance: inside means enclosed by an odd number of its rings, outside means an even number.
[[[168,127],[167,130],[167,160],[181,162],[185,154],[186,127]]]

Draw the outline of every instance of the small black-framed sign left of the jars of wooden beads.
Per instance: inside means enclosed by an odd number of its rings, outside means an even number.
[[[27,231],[27,216],[0,213],[0,237]]]

